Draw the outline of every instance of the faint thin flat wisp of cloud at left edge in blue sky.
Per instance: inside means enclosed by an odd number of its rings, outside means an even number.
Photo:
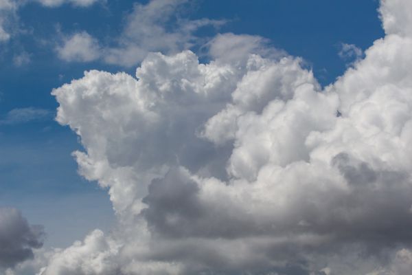
[[[39,121],[52,118],[52,111],[46,109],[38,109],[34,107],[16,108],[9,111],[3,119],[0,120],[0,124],[21,124],[32,121]]]

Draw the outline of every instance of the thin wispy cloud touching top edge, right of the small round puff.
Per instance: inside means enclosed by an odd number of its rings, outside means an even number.
[[[119,45],[107,49],[104,61],[132,66],[141,62],[148,52],[179,52],[196,43],[192,33],[198,28],[222,23],[209,19],[179,19],[179,8],[185,3],[187,0],[152,0],[146,5],[135,3],[119,36]]]

